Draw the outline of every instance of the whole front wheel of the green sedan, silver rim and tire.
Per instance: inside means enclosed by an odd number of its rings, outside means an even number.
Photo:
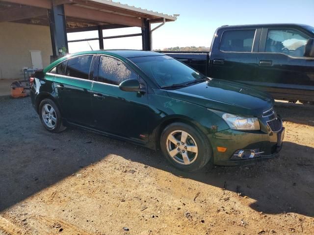
[[[202,168],[212,156],[207,137],[182,122],[172,123],[163,130],[160,148],[166,159],[183,171],[196,171]]]

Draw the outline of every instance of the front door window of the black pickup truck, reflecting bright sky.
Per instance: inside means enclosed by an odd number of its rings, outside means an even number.
[[[284,53],[293,57],[303,57],[308,36],[293,29],[269,29],[265,52]]]

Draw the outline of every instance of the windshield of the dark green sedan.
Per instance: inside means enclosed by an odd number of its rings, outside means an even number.
[[[207,79],[203,74],[166,55],[134,57],[130,60],[161,88],[187,86]]]

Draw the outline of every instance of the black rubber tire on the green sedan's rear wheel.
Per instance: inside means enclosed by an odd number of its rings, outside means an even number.
[[[52,125],[50,126],[47,122],[47,118],[43,118],[43,112],[45,112],[45,107],[52,107],[53,108],[53,114],[52,114],[52,118],[55,119],[55,121],[52,121]],[[52,133],[58,133],[58,132],[62,132],[66,129],[66,127],[63,125],[62,123],[62,119],[61,119],[61,113],[58,109],[58,106],[52,101],[52,99],[46,98],[43,99],[38,107],[38,114],[39,114],[39,118],[43,124],[43,126],[50,132]]]

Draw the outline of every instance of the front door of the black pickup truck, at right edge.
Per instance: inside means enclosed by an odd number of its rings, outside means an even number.
[[[259,88],[274,98],[314,99],[314,59],[304,57],[310,38],[293,28],[262,29],[258,53]]]

